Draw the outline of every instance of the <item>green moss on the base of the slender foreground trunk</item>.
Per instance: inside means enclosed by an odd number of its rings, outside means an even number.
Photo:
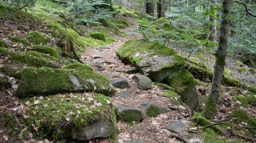
[[[203,108],[203,115],[208,119],[214,119],[216,112],[216,102],[208,96],[206,98],[206,106]]]

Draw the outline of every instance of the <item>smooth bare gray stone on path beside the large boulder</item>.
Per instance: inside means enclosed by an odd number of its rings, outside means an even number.
[[[137,80],[140,89],[145,90],[152,88],[152,82],[150,78],[144,75],[135,75],[135,79]]]

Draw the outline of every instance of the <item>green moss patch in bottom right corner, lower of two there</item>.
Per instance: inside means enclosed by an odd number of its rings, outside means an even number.
[[[249,117],[243,109],[233,111],[231,116],[236,117],[235,123],[241,124],[244,122],[247,123],[249,127],[256,128],[256,119]]]

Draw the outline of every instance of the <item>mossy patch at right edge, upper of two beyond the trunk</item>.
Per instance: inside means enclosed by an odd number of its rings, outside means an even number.
[[[244,96],[236,96],[234,97],[236,101],[240,101],[243,107],[249,107],[249,105],[256,105],[256,93],[252,93],[247,91]]]

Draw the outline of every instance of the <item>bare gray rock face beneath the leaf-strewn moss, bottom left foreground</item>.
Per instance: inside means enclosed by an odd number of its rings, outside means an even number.
[[[75,139],[89,141],[91,139],[106,138],[114,130],[113,122],[110,120],[99,120],[92,125],[74,129]]]

